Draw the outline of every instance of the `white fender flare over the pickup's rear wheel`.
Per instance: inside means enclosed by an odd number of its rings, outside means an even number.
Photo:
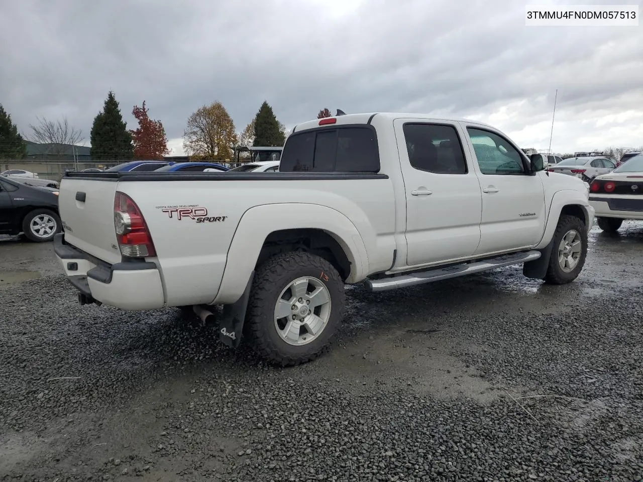
[[[232,237],[219,290],[212,304],[235,303],[255,270],[267,236],[283,229],[321,229],[340,244],[350,262],[347,283],[365,278],[368,253],[356,226],[340,211],[304,202],[264,204],[247,210]]]

